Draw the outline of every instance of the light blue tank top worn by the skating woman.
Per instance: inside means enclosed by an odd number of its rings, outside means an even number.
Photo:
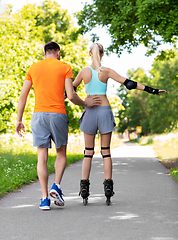
[[[85,85],[87,95],[106,95],[107,83],[103,83],[98,78],[97,70],[89,66],[92,73],[92,78],[89,83]],[[100,67],[102,68],[102,66]]]

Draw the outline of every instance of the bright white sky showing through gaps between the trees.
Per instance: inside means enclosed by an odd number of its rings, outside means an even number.
[[[73,13],[80,11],[85,2],[92,3],[92,0],[55,0],[61,5],[61,8],[67,9],[69,14],[73,16]],[[12,4],[13,11],[19,10],[23,5],[28,3],[36,3],[40,4],[42,0],[0,0],[0,12],[4,11],[5,4]],[[74,16],[73,16],[74,18]],[[74,22],[77,25],[77,21],[74,18]],[[97,29],[97,34],[100,37],[99,42],[106,48],[110,43],[110,36],[106,32],[106,30],[102,28]],[[90,39],[90,34],[86,34],[84,37]],[[171,48],[169,44],[162,45],[159,50],[165,50]],[[102,65],[105,67],[109,67],[114,69],[117,73],[119,73],[123,77],[127,77],[128,70],[136,70],[137,68],[144,69],[145,73],[149,75],[149,70],[152,68],[152,63],[154,58],[158,54],[155,53],[152,56],[146,57],[146,48],[141,44],[137,48],[132,50],[132,53],[127,53],[126,50],[123,51],[120,58],[116,54],[110,54],[109,56],[104,56],[102,60]],[[134,79],[133,79],[134,80]],[[117,92],[117,88],[119,84],[117,84],[113,80],[109,80],[108,84],[108,94],[115,94]]]

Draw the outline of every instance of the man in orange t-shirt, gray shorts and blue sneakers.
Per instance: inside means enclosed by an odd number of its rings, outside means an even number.
[[[87,96],[83,101],[73,89],[72,69],[69,64],[60,61],[60,47],[56,42],[49,42],[44,46],[45,59],[33,64],[24,81],[19,97],[16,132],[21,137],[21,130],[25,132],[22,117],[31,86],[35,92],[35,108],[32,115],[31,127],[33,146],[38,148],[37,173],[42,190],[39,206],[42,210],[50,209],[48,198],[48,148],[51,140],[56,146],[55,180],[50,190],[54,203],[64,206],[63,194],[60,188],[62,176],[66,167],[66,145],[68,140],[68,118],[64,104],[64,89],[67,97],[76,105],[91,107],[98,106],[100,99]]]

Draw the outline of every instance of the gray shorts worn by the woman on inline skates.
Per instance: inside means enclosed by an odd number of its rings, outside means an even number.
[[[112,132],[116,126],[110,106],[85,108],[80,120],[80,129],[88,134],[95,135]]]

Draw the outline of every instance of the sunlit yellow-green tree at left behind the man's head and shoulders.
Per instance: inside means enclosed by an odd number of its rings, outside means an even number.
[[[14,129],[19,94],[25,74],[36,61],[43,58],[43,46],[56,41],[61,47],[61,60],[68,62],[74,77],[87,64],[87,41],[77,33],[67,10],[55,1],[42,5],[28,4],[12,14],[11,7],[0,15],[0,131]],[[34,92],[30,91],[24,122],[30,131],[34,106]],[[66,102],[71,131],[76,124],[81,107]]]

